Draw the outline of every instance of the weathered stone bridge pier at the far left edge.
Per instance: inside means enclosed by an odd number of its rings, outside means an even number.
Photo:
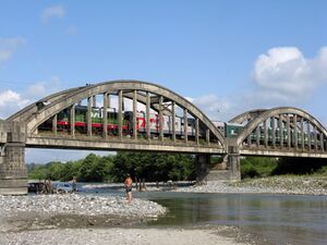
[[[27,171],[25,167],[25,140],[21,127],[7,133],[7,143],[0,156],[0,195],[27,194]]]

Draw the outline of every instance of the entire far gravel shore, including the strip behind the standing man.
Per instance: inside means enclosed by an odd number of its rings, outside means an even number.
[[[83,188],[120,189],[122,184],[83,185]],[[201,184],[189,182],[146,183],[143,192],[190,192],[190,193],[267,193],[267,194],[294,194],[294,195],[327,195],[326,175],[278,175],[257,179],[245,179],[239,182],[210,181]]]

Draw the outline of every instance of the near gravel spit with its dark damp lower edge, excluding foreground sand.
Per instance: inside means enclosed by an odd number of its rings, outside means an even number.
[[[149,200],[135,198],[129,205],[123,197],[75,194],[0,196],[0,233],[126,225],[166,212],[166,208]]]

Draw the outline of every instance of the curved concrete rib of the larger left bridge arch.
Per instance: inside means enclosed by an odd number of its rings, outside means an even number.
[[[27,135],[35,135],[37,134],[39,125],[56,117],[60,111],[70,109],[84,99],[89,99],[97,95],[109,94],[132,100],[135,97],[137,102],[148,105],[152,109],[162,114],[172,114],[171,107],[166,108],[165,110],[162,109],[162,103],[165,101],[170,101],[183,109],[184,114],[186,113],[193,117],[199,126],[206,128],[207,137],[216,138],[215,140],[218,142],[220,148],[225,148],[225,138],[222,134],[197,107],[172,90],[142,81],[111,81],[68,89],[50,95],[38,102],[22,109],[8,120],[25,122]]]

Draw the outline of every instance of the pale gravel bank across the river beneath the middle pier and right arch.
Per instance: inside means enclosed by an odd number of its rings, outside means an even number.
[[[195,193],[270,193],[296,195],[327,195],[325,175],[282,175],[242,180],[228,183],[223,181],[206,182],[202,185],[179,187],[175,192]]]

